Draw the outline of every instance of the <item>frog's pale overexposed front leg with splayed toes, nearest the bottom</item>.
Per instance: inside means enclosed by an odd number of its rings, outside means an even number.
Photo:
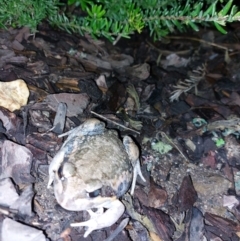
[[[103,208],[108,209],[103,212]],[[90,215],[90,219],[81,223],[72,223],[71,226],[86,226],[87,231],[84,234],[84,237],[86,238],[93,230],[112,226],[122,216],[124,209],[124,205],[118,199],[115,199],[111,202],[102,204],[102,207],[98,208],[96,212],[87,210]]]

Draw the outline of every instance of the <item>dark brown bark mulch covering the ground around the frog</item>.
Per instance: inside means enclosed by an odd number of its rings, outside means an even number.
[[[1,30],[2,240],[15,240],[6,237],[15,221],[48,240],[102,241],[125,218],[115,240],[239,240],[239,24],[229,28],[157,42],[144,32],[114,46],[45,24],[35,35]],[[8,83],[19,79],[29,97],[15,107]],[[91,117],[133,137],[147,181],[121,198],[116,225],[83,238],[84,228],[70,223],[88,214],[60,207],[47,179],[58,135]]]

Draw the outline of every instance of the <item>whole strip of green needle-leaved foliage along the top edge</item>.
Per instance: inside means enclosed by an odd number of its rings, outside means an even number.
[[[68,0],[68,4],[85,14],[62,11],[58,0],[2,0],[0,26],[29,26],[36,31],[37,25],[47,19],[68,32],[104,36],[110,41],[129,38],[146,27],[156,40],[176,29],[191,27],[197,31],[199,24],[212,23],[226,33],[227,22],[240,20],[233,0]]]

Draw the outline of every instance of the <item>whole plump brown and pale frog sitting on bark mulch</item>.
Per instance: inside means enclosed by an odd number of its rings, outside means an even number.
[[[53,184],[55,198],[64,209],[89,213],[89,220],[70,224],[85,227],[86,238],[116,223],[125,210],[119,199],[129,189],[134,194],[138,175],[146,180],[139,148],[130,136],[121,141],[115,130],[96,118],[64,135],[68,137],[49,165],[48,188]]]

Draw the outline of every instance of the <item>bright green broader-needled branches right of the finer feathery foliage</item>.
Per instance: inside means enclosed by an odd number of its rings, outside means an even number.
[[[187,0],[181,3],[177,0],[69,1],[81,4],[88,13],[87,17],[78,19],[79,24],[90,27],[87,32],[95,37],[103,35],[110,40],[119,36],[127,38],[135,31],[141,32],[144,27],[149,28],[154,39],[159,39],[175,29],[184,31],[187,26],[197,31],[199,23],[213,23],[220,32],[226,33],[222,26],[240,19],[240,12],[237,12],[233,0]]]

